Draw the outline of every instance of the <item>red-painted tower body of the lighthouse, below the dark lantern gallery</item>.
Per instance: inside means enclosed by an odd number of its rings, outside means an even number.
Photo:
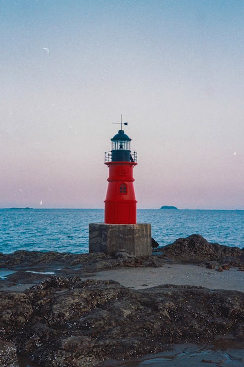
[[[136,224],[137,208],[133,182],[136,162],[105,162],[109,167],[104,223]]]

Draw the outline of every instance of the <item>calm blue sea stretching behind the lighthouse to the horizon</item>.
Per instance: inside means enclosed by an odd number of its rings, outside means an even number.
[[[244,210],[138,209],[152,237],[167,245],[201,234],[209,242],[244,247]],[[0,209],[0,252],[88,252],[88,224],[103,222],[103,209]]]

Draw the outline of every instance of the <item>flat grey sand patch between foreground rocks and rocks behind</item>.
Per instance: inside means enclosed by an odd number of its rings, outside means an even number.
[[[172,264],[162,267],[133,267],[100,271],[94,278],[119,282],[126,287],[143,289],[162,284],[202,285],[209,289],[244,292],[244,272],[230,268],[222,272],[197,265]]]

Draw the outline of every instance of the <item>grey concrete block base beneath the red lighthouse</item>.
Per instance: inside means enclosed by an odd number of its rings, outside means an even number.
[[[122,248],[135,256],[151,255],[151,224],[89,224],[89,252],[114,255]]]

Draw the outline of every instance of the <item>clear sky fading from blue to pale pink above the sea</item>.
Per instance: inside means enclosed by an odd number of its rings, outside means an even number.
[[[243,0],[0,0],[0,207],[244,209]]]

